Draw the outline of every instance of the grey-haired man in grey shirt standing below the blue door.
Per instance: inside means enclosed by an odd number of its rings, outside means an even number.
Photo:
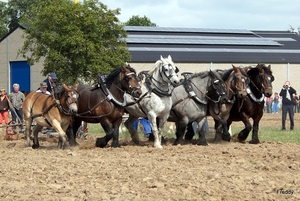
[[[19,132],[24,133],[23,129],[23,111],[22,105],[25,100],[25,95],[20,91],[20,85],[15,83],[13,85],[14,91],[9,94],[9,101],[11,102],[11,115],[12,115],[12,124],[16,124],[18,120]],[[16,126],[13,126],[13,131],[16,134]]]

